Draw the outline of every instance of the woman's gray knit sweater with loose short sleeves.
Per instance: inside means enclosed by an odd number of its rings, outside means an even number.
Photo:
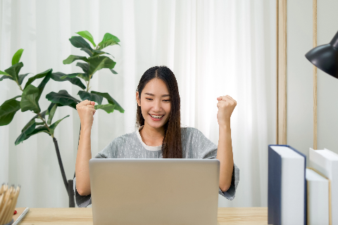
[[[140,128],[142,129],[142,127]],[[213,159],[217,155],[217,146],[193,127],[182,127],[182,155],[183,158]],[[113,139],[95,158],[163,158],[161,146],[146,146],[142,141],[139,131],[134,131]],[[239,182],[239,169],[234,165],[230,188],[219,194],[228,200],[234,199]],[[87,207],[92,204],[91,195],[80,195],[76,191],[76,177],[74,178],[75,200],[78,207]]]

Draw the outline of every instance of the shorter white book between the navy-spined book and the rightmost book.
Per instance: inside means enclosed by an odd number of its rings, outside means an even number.
[[[306,168],[308,225],[329,225],[329,180]]]

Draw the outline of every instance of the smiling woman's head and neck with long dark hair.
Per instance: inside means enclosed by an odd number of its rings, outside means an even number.
[[[158,66],[146,70],[137,86],[136,98],[142,140],[149,146],[163,143],[163,158],[182,158],[180,94],[173,72]],[[163,117],[154,118],[156,115]]]

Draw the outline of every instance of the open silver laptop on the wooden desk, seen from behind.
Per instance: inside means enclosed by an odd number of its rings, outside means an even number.
[[[216,225],[220,162],[89,160],[94,225]]]

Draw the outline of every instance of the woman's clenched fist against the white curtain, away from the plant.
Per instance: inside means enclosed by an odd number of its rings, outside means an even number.
[[[231,117],[232,111],[237,105],[237,102],[234,101],[234,99],[231,98],[230,96],[220,96],[217,98],[217,100],[218,100],[218,103],[217,103],[218,124],[220,126],[230,124],[230,117]]]

